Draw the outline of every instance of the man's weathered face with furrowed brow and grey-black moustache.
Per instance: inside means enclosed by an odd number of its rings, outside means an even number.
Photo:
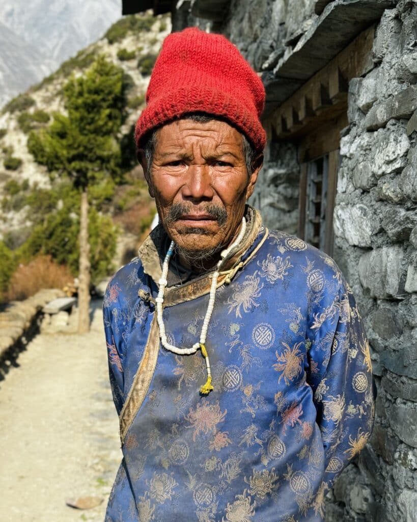
[[[242,136],[226,122],[177,120],[157,130],[149,192],[180,252],[202,259],[234,239],[259,170],[248,174]]]

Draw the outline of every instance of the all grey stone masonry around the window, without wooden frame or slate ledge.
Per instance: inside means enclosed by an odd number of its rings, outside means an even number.
[[[191,14],[195,9],[187,15],[186,10],[198,3],[182,3],[182,27],[199,25],[223,32],[256,70],[273,74],[307,33],[311,37],[327,4],[329,11],[332,5],[349,2],[232,0],[220,2],[228,13],[224,22],[195,18]],[[206,9],[210,3],[205,2]],[[361,6],[363,10],[375,6],[377,16],[382,16],[376,26],[374,67],[349,82],[349,126],[340,140],[334,258],[366,325],[378,397],[371,442],[328,494],[326,520],[415,522],[417,3],[394,1],[389,9],[383,0],[354,4],[359,15]],[[263,78],[267,81],[265,73]],[[265,164],[253,203],[268,227],[293,233],[298,223],[297,147],[275,139],[268,127],[267,132]]]

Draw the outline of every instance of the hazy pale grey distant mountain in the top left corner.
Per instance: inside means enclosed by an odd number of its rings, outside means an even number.
[[[0,107],[99,38],[119,0],[14,0],[0,9]]]

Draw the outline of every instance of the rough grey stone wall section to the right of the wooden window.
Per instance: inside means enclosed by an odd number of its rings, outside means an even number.
[[[378,397],[371,443],[339,478],[330,520],[417,520],[416,26],[416,3],[387,9],[375,68],[349,85],[335,257],[366,325]]]

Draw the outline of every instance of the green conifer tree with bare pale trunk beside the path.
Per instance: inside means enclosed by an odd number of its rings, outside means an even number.
[[[29,137],[29,150],[57,176],[68,176],[81,198],[79,258],[79,333],[90,328],[90,245],[88,188],[105,176],[119,175],[116,134],[124,108],[123,71],[105,60],[64,87],[67,115],[55,114],[50,126]]]

